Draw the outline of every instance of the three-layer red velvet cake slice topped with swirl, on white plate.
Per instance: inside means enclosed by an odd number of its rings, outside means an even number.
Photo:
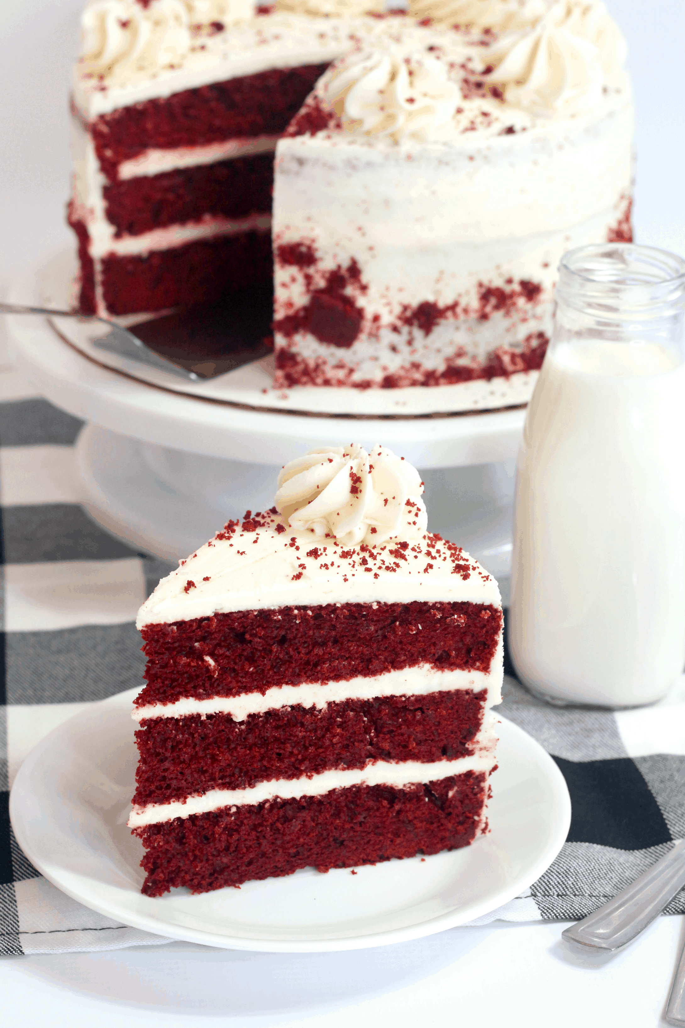
[[[143,891],[376,864],[486,831],[496,582],[426,533],[417,472],[315,450],[159,583],[129,827]]]

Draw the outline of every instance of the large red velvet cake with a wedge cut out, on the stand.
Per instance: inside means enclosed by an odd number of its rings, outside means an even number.
[[[528,402],[560,258],[632,237],[624,41],[602,0],[388,6],[88,0],[80,308],[273,283],[275,366],[246,402]]]

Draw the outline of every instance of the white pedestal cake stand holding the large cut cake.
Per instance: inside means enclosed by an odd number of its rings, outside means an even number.
[[[16,282],[10,301],[38,301],[39,276]],[[186,556],[229,517],[270,507],[277,470],[293,457],[317,445],[381,442],[421,470],[431,530],[493,574],[509,572],[522,408],[406,418],[250,409],[96,364],[39,317],[11,316],[8,330],[20,370],[86,421],[76,450],[88,513],[135,546]]]

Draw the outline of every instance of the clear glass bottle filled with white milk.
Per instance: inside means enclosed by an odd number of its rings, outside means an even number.
[[[509,647],[553,703],[665,695],[685,662],[685,261],[563,258],[517,465]]]

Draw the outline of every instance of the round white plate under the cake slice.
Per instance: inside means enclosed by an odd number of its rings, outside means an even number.
[[[125,924],[226,949],[350,950],[418,939],[507,903],[549,866],[566,839],[564,778],[534,739],[502,721],[491,831],[472,846],[248,882],[202,895],[141,894],[141,843],[126,828],[138,754],[131,689],[76,714],[23,764],[9,812],[32,864],[73,898]]]

